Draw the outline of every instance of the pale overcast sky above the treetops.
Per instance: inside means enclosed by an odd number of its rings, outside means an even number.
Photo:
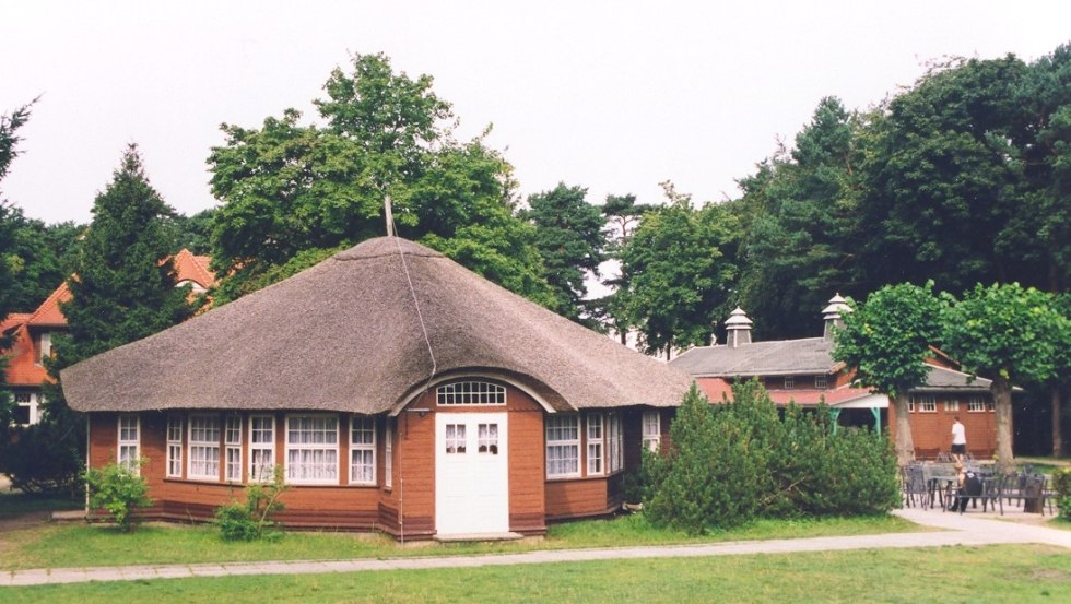
[[[866,108],[945,56],[1033,60],[1071,40],[1071,2],[528,2],[0,0],[0,112],[42,95],[3,194],[47,222],[89,221],[122,150],[179,212],[214,204],[222,122],[259,127],[311,99],[351,52],[435,78],[463,138],[528,196],[696,201],[791,141],[823,96]]]

